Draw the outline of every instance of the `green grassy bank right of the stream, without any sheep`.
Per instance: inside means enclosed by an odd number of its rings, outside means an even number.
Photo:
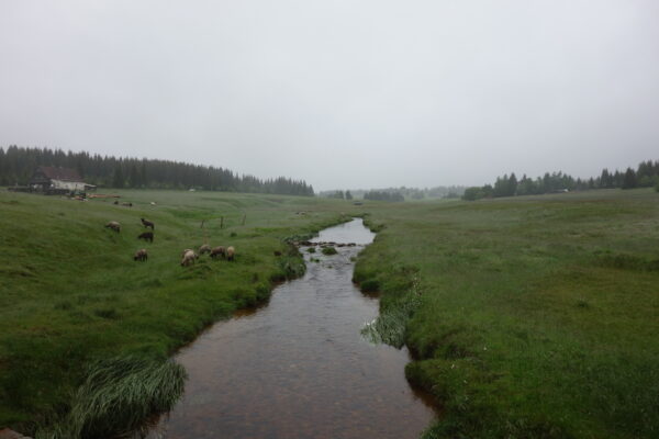
[[[656,192],[391,205],[370,221],[384,227],[355,280],[383,293],[383,339],[410,346],[407,378],[444,406],[426,438],[659,436]]]

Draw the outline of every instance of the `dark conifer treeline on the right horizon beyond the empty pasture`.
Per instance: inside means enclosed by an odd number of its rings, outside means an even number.
[[[515,173],[498,177],[494,185],[472,187],[465,190],[463,200],[479,200],[484,198],[539,195],[555,192],[584,191],[589,189],[634,189],[659,188],[659,161],[641,161],[638,168],[627,168],[626,171],[615,172],[603,169],[599,177],[590,179],[574,179],[562,172],[545,173],[535,180],[522,177],[517,180]]]

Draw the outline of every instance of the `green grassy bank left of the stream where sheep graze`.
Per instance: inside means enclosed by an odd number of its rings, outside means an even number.
[[[88,364],[166,359],[212,322],[267,300],[276,282],[300,273],[283,238],[335,224],[346,206],[209,192],[121,195],[133,207],[0,191],[0,427],[34,432],[69,413]],[[136,239],[141,217],[156,224],[153,244]],[[109,221],[122,224],[120,234],[103,228]],[[234,246],[235,262],[204,257],[180,267],[181,250],[206,238]],[[147,262],[133,261],[138,248]]]

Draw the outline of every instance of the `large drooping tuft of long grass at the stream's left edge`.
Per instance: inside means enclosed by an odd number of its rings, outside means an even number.
[[[186,370],[172,360],[127,356],[91,363],[68,415],[36,439],[110,438],[146,428],[183,393]]]

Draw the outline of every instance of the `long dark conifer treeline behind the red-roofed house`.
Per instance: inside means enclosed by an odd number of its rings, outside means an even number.
[[[258,179],[212,166],[65,153],[62,149],[0,147],[0,185],[25,185],[38,166],[76,169],[85,182],[104,188],[203,189],[313,196],[302,180]]]

